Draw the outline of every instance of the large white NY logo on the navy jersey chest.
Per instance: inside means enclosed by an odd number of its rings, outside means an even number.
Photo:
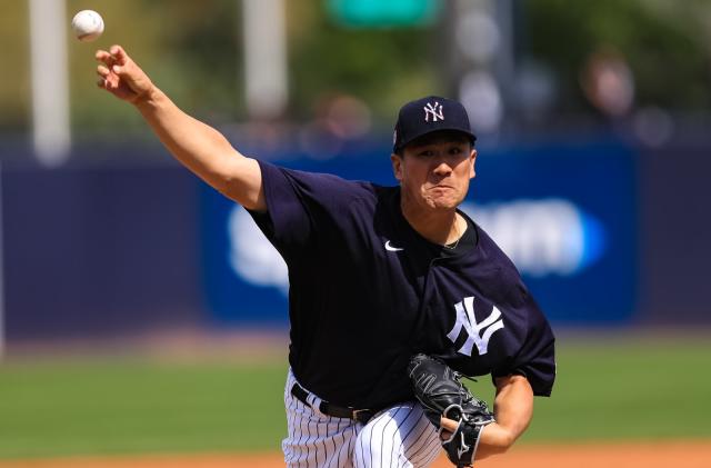
[[[503,328],[503,319],[501,311],[493,306],[491,315],[481,322],[477,322],[474,315],[474,298],[467,297],[461,302],[454,305],[457,311],[457,321],[454,327],[447,333],[447,338],[452,342],[457,341],[462,330],[467,335],[467,341],[457,350],[461,355],[471,356],[471,351],[477,345],[479,356],[489,352],[489,340],[491,336]]]

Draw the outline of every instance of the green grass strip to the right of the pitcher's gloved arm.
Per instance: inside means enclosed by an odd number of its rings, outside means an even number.
[[[711,340],[563,341],[525,440],[711,437]]]

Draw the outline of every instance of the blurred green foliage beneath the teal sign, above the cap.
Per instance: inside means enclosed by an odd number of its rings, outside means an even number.
[[[363,100],[390,127],[393,109],[413,97],[444,92],[438,76],[438,24],[405,29],[350,29],[329,18],[326,1],[289,3],[291,109],[313,113],[321,98]]]

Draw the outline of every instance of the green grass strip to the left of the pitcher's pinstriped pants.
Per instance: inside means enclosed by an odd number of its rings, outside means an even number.
[[[279,450],[286,365],[0,366],[0,457]]]

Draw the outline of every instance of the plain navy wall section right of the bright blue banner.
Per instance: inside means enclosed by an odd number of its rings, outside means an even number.
[[[639,319],[711,323],[711,146],[640,155]]]

